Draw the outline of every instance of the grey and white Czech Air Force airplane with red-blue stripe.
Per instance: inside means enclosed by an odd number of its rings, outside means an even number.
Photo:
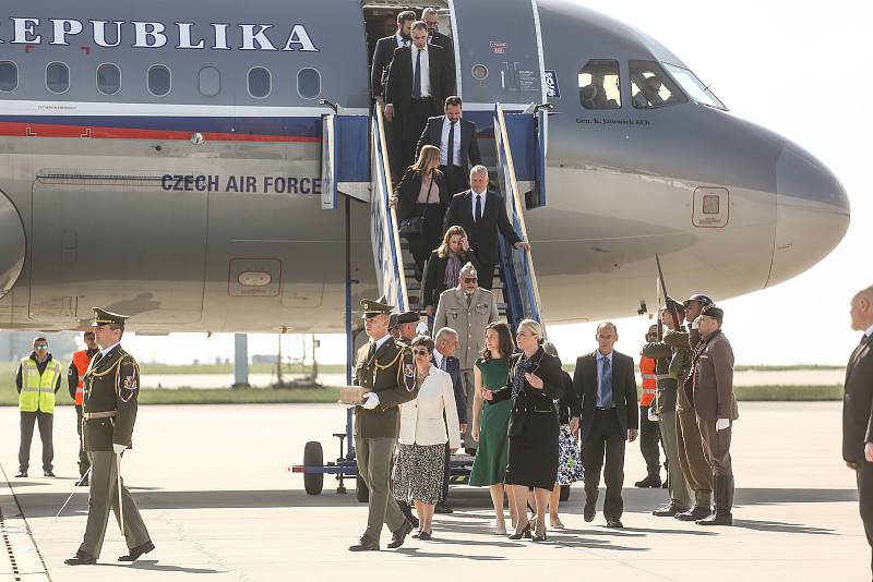
[[[657,305],[656,253],[671,289],[765,289],[849,225],[821,161],[576,2],[4,5],[3,329],[81,329],[101,305],[146,335],[343,331],[346,205],[354,304],[379,291],[366,196],[322,209],[323,116],[370,114],[368,52],[410,7],[439,9],[492,167],[495,104],[551,107],[546,204],[524,213],[546,323]]]

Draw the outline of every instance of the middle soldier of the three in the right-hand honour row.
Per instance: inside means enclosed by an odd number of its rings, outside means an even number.
[[[685,301],[685,322],[693,323],[706,305],[713,300],[706,295],[692,295]],[[699,335],[695,332],[695,338]],[[663,341],[673,348],[673,360],[670,372],[675,372],[680,379],[675,400],[675,444],[679,451],[679,464],[689,487],[694,492],[694,507],[684,513],[674,516],[679,521],[697,521],[708,517],[713,511],[713,470],[703,452],[701,429],[697,427],[697,415],[692,404],[691,353],[689,331],[685,329],[668,330]],[[696,339],[694,344],[696,345]]]

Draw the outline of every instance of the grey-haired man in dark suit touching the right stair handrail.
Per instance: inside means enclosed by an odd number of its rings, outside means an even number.
[[[488,168],[474,166],[470,170],[470,190],[455,194],[445,211],[443,230],[458,226],[467,231],[467,237],[476,256],[476,270],[480,274],[479,287],[491,290],[494,265],[498,254],[498,231],[515,248],[529,250],[506,216],[506,203],[494,192],[488,190]]]

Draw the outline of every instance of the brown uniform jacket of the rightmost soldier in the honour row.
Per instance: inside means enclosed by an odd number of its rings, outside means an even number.
[[[694,410],[706,421],[740,417],[733,397],[733,350],[721,330],[703,340],[694,372]]]

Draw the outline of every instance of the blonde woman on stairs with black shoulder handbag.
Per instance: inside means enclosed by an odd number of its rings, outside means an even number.
[[[406,169],[391,198],[391,205],[397,209],[400,233],[409,241],[419,280],[424,260],[440,244],[449,202],[449,190],[440,171],[440,148],[423,146],[418,160]]]

